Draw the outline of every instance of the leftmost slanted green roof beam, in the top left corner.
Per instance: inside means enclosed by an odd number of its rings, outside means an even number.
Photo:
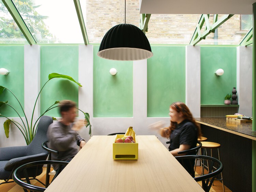
[[[22,16],[19,14],[16,6],[12,2],[12,0],[2,0],[6,8],[8,9],[9,13],[12,15],[14,21],[18,25],[20,31],[22,31],[23,35],[27,39],[30,45],[36,44],[32,33],[30,32],[28,26],[26,25],[25,21],[23,20]]]

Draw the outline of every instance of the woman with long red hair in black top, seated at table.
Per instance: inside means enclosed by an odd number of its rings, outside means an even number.
[[[185,103],[175,102],[170,105],[171,124],[169,128],[161,129],[161,136],[170,138],[169,151],[173,156],[183,156],[186,154],[178,154],[179,151],[195,148],[197,138],[201,135],[200,127],[195,122],[189,108]],[[196,151],[187,153],[187,155],[195,155]],[[182,163],[183,167],[192,173],[195,162]],[[191,167],[193,166],[193,167]],[[191,169],[192,168],[192,169]]]

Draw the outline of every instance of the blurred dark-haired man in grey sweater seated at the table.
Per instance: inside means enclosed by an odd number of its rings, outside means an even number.
[[[84,126],[84,120],[74,123],[77,109],[73,101],[61,101],[59,109],[62,119],[52,123],[48,129],[49,148],[59,152],[52,154],[52,160],[70,162],[78,152],[77,145],[80,149],[85,145],[84,139],[76,132]]]

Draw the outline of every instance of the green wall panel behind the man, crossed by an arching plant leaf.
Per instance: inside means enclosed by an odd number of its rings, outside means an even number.
[[[69,75],[78,81],[78,46],[41,46],[41,88],[50,73]],[[68,79],[51,79],[41,92],[41,114],[55,101],[72,100],[78,105],[78,85]],[[60,117],[57,108],[46,115]]]

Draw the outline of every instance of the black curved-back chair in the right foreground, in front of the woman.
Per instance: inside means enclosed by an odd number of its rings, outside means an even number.
[[[220,174],[223,170],[223,164],[221,161],[219,161],[216,158],[213,157],[209,157],[209,156],[202,156],[202,155],[187,155],[187,156],[177,156],[175,157],[177,160],[187,160],[187,159],[202,159],[204,160],[208,160],[209,162],[209,170],[208,170],[208,174],[199,176],[199,177],[194,177],[194,179],[198,182],[198,181],[202,181],[202,188],[204,191],[209,192],[211,189],[211,186],[213,184],[213,181],[215,179],[215,177]],[[191,161],[189,161],[191,162]],[[213,168],[215,168],[215,170],[213,171]]]

